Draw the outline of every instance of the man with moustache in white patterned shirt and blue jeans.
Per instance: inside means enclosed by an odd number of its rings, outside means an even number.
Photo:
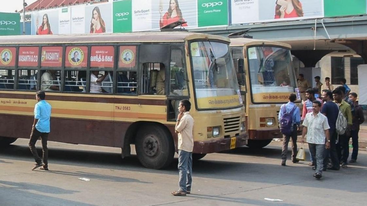
[[[312,102],[312,113],[306,114],[303,121],[302,143],[307,134],[307,143],[312,155],[313,164],[316,173],[313,174],[316,179],[322,177],[324,149],[330,148],[330,126],[327,122],[327,117],[320,113],[321,102],[315,100]],[[326,138],[326,143],[325,143]]]

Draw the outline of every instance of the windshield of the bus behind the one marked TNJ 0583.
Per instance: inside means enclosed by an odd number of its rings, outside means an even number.
[[[247,56],[252,102],[287,102],[297,86],[290,50],[255,46],[247,49]]]

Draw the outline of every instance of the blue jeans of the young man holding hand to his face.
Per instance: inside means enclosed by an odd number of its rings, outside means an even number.
[[[191,191],[192,185],[192,152],[178,150],[178,172],[180,191]]]

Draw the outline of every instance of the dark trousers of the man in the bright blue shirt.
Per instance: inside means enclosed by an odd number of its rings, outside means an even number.
[[[38,156],[38,152],[36,149],[36,142],[38,140],[38,137],[41,137],[41,143],[42,143],[42,152],[43,152],[43,164],[44,165],[48,165],[48,148],[47,148],[47,138],[48,138],[48,132],[40,132],[39,130],[37,130],[36,128],[34,128],[34,130],[32,131],[32,133],[30,133],[30,140],[29,140],[29,148],[30,151],[33,154],[34,160],[36,161],[37,164],[42,164],[42,160],[41,158]]]

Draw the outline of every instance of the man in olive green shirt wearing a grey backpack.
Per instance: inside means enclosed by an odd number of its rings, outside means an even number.
[[[339,144],[341,151],[339,152],[339,159],[342,163],[342,168],[348,168],[348,156],[349,155],[349,137],[350,129],[352,128],[352,110],[350,105],[343,100],[343,92],[340,89],[335,89],[333,91],[334,102],[338,104],[339,110],[344,115],[347,120],[348,128],[346,129],[345,134],[339,135]]]

